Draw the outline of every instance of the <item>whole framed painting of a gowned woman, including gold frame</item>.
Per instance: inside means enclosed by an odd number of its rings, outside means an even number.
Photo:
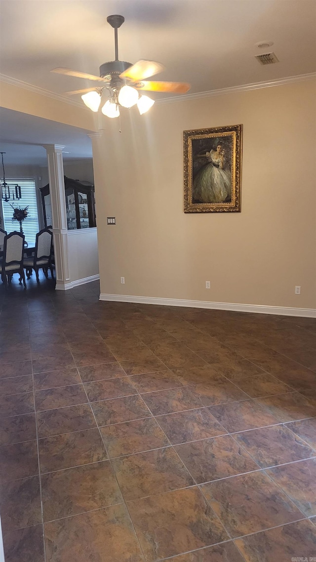
[[[240,212],[242,125],[183,132],[184,212]]]

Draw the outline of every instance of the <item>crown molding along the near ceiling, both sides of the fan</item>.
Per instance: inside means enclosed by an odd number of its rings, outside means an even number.
[[[208,90],[207,92],[196,92],[192,94],[184,94],[183,96],[174,96],[170,98],[156,99],[156,104],[161,105],[163,103],[175,103],[181,101],[187,101],[188,99],[201,99],[208,98],[212,96],[222,96],[223,94],[232,94],[238,92],[250,92],[251,90],[259,90],[261,88],[271,88],[273,86],[282,86],[284,84],[294,84],[296,82],[303,82],[306,80],[313,80],[316,78],[316,72],[309,72],[309,74],[299,74],[296,76],[287,76],[287,78],[278,78],[277,80],[265,80],[263,82],[252,82],[251,84],[242,84],[240,86],[232,86],[228,88],[222,88],[218,90]],[[56,94],[45,90],[44,88],[39,88],[33,84],[28,84],[22,80],[17,80],[16,78],[11,78],[11,76],[6,76],[0,73],[0,81],[6,82],[7,84],[12,84],[18,86],[19,88],[24,88],[30,92],[36,94],[41,94],[42,96],[47,96],[49,98],[58,99],[58,101],[64,103],[70,103],[77,107],[84,109],[81,101],[76,101],[75,99],[62,96],[61,94]]]

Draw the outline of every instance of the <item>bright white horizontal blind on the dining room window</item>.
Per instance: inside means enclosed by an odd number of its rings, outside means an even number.
[[[39,231],[38,225],[38,207],[36,197],[36,186],[32,179],[7,179],[6,183],[10,187],[11,199],[10,203],[13,207],[20,207],[20,209],[28,208],[28,216],[22,222],[22,229],[25,235],[25,241],[29,246],[35,246],[35,236]],[[12,194],[15,193],[16,184],[21,187],[21,199],[19,201],[12,199]],[[13,230],[20,230],[20,223],[12,220],[13,209],[9,202],[2,200],[4,230],[9,234]],[[3,228],[3,226],[2,226]]]

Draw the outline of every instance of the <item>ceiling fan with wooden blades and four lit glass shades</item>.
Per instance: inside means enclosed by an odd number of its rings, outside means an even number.
[[[164,66],[160,62],[140,60],[133,65],[131,62],[120,61],[118,55],[118,29],[124,23],[124,17],[112,15],[107,17],[107,22],[114,28],[115,61],[105,62],[100,66],[100,77],[64,68],[51,70],[51,72],[57,72],[57,74],[66,74],[67,76],[76,76],[77,78],[85,78],[102,83],[100,86],[66,92],[68,95],[83,94],[82,99],[85,105],[92,111],[98,111],[102,92],[106,89],[109,93],[109,99],[105,102],[101,111],[107,117],[118,117],[120,115],[119,107],[129,108],[137,104],[139,113],[142,115],[154,104],[154,99],[144,95],[139,96],[138,90],[181,94],[189,90],[190,85],[185,82],[146,80],[146,78],[150,78],[150,76],[154,76],[154,74],[164,70]]]

